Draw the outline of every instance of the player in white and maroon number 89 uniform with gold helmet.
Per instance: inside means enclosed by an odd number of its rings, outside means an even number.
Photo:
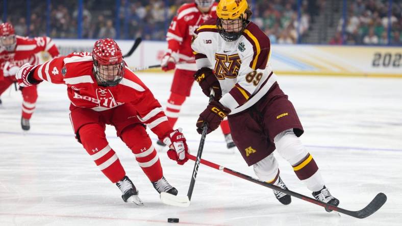
[[[337,206],[339,201],[324,186],[314,158],[300,142],[303,127],[269,64],[269,38],[249,21],[252,11],[246,0],[220,0],[216,12],[218,19],[200,26],[191,44],[198,84],[206,94],[214,89],[222,95],[199,115],[198,133],[205,122],[211,132],[228,116],[233,140],[260,180],[287,189],[273,156],[276,149],[315,199]],[[274,194],[282,204],[290,204],[290,195]]]

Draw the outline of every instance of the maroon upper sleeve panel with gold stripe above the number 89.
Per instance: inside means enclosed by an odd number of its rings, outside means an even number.
[[[253,68],[254,64],[254,59],[257,57],[257,43],[254,42],[254,40],[248,36],[246,33],[243,32],[243,36],[253,45],[253,60],[250,62],[250,68],[253,70],[261,69],[264,70],[265,67],[267,66],[268,62],[268,56],[269,56],[269,51],[271,50],[271,43],[269,41],[269,38],[261,31],[261,29],[253,22],[250,22],[248,26],[246,27],[246,30],[248,30],[250,33],[254,35],[254,37],[257,39],[257,42],[260,46],[260,54],[258,55],[257,59],[257,64],[256,67]]]

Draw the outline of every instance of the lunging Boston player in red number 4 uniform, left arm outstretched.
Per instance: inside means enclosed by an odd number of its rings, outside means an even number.
[[[188,160],[186,139],[181,129],[172,129],[152,92],[125,65],[113,39],[96,41],[92,53],[74,52],[37,66],[25,64],[16,78],[23,87],[43,80],[67,85],[70,120],[76,138],[99,170],[116,183],[124,202],[143,205],[138,189],[125,175],[108,144],[106,124],[115,127],[117,136],[134,153],[142,171],[159,193],[178,193],[163,176],[158,154],[145,128],[147,126],[169,145],[167,154],[178,164]]]

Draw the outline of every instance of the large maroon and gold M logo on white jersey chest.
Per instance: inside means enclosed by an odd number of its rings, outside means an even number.
[[[218,79],[236,78],[239,72],[241,60],[239,54],[225,55],[215,53],[215,75]],[[227,63],[229,66],[227,66]]]

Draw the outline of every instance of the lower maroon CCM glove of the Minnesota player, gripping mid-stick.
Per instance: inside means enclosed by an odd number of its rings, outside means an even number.
[[[207,134],[214,131],[219,127],[223,118],[229,115],[230,111],[229,108],[223,106],[219,101],[211,101],[207,108],[199,114],[197,124],[195,124],[197,132],[199,134],[203,133],[204,123],[208,123]]]

